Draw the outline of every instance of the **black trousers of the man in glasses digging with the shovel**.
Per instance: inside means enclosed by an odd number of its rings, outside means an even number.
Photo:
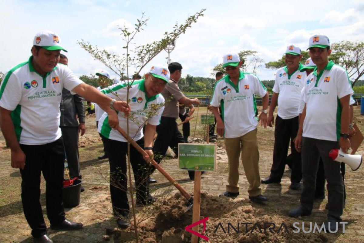
[[[102,136],[102,135],[101,135]],[[102,136],[110,164],[110,195],[115,216],[127,216],[129,202],[127,197],[127,142],[120,142]],[[136,141],[144,147],[144,138]],[[130,145],[130,163],[134,173],[137,200],[145,202],[149,194],[148,176],[150,166],[142,154]]]

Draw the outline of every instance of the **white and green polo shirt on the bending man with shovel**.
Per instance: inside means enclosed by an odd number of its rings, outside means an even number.
[[[161,116],[163,113],[164,106],[156,107],[157,104],[164,105],[165,99],[161,94],[157,94],[150,98],[147,98],[147,93],[145,92],[144,79],[134,81],[129,89],[129,105],[131,107],[131,114],[129,119],[129,136],[138,141],[143,137],[143,126],[147,119],[147,114],[151,115],[148,123],[151,125],[159,125],[161,122]],[[109,97],[126,101],[127,87],[125,83],[116,83],[101,90],[102,93],[108,95]],[[119,126],[125,132],[126,130],[126,118],[124,113],[118,113]],[[99,120],[98,131],[104,137],[111,140],[117,140],[122,142],[127,142],[127,140],[118,132],[118,130],[112,129],[108,124],[108,114],[103,113]]]

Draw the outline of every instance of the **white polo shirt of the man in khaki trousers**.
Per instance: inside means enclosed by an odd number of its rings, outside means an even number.
[[[240,72],[237,87],[229,75],[215,84],[211,105],[221,105],[226,138],[241,137],[256,129],[258,121],[255,118],[257,105],[254,94],[263,97],[266,93],[258,77],[246,72]]]

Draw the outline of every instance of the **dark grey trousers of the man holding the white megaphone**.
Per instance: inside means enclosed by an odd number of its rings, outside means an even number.
[[[329,157],[331,149],[338,149],[336,141],[302,137],[302,180],[301,205],[311,212],[316,188],[318,161],[322,158],[328,191],[328,218],[340,220],[344,208],[344,184],[340,163]]]

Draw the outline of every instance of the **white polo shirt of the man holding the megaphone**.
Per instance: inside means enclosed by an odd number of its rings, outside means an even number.
[[[353,94],[345,69],[330,61],[319,74],[317,67],[306,78],[304,102],[306,117],[303,137],[338,141],[340,139],[340,98]]]

